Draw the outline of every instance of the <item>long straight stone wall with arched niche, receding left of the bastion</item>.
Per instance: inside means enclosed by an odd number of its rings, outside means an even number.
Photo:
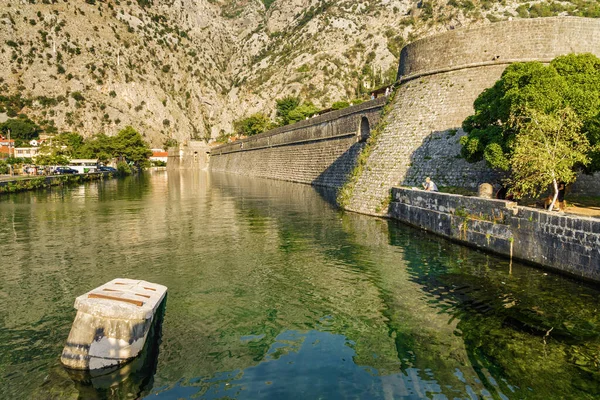
[[[341,187],[386,100],[381,97],[213,148],[210,169]]]

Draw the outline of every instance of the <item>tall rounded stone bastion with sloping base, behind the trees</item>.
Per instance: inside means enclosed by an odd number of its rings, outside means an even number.
[[[348,208],[383,215],[393,186],[420,187],[427,176],[439,186],[475,189],[493,182],[496,176],[483,162],[460,158],[461,125],[474,100],[513,62],[549,62],[568,53],[600,56],[598,38],[600,19],[556,17],[457,29],[404,47],[394,104]]]

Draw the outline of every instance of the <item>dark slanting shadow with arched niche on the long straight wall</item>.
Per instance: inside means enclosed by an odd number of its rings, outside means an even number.
[[[362,116],[357,127],[356,143],[331,163],[325,171],[311,182],[311,185],[326,186],[335,189],[341,188],[347,182],[350,173],[356,166],[356,160],[370,135],[371,124],[369,119],[366,116]]]

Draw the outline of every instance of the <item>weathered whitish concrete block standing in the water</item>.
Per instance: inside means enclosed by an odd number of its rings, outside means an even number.
[[[77,297],[63,365],[95,370],[136,357],[166,293],[163,285],[119,278]]]

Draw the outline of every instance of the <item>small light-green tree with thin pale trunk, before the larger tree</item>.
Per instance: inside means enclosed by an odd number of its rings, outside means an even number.
[[[558,197],[558,183],[574,182],[574,166],[590,162],[587,155],[590,145],[581,132],[581,118],[569,107],[549,114],[526,110],[510,124],[519,134],[511,144],[508,183],[516,193],[534,196],[552,185],[552,210]]]

